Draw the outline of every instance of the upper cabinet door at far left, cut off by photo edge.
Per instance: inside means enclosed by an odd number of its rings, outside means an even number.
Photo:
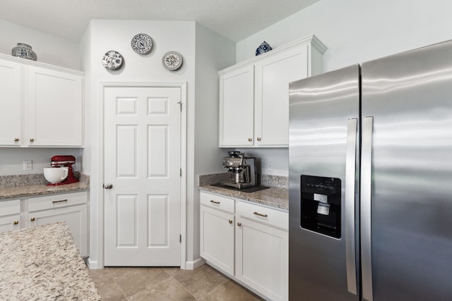
[[[0,61],[0,145],[20,146],[20,64]]]

